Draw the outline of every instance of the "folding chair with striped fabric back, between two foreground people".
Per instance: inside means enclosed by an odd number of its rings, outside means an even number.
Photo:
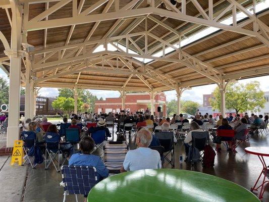
[[[128,145],[124,141],[105,142],[104,145],[104,164],[109,173],[120,173],[125,156],[128,151]]]

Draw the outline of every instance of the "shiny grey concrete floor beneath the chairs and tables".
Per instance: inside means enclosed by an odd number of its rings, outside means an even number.
[[[114,137],[114,139],[116,136]],[[269,136],[253,137],[250,140],[251,146],[268,146]],[[214,145],[213,145],[214,147]],[[134,148],[134,139],[130,142],[130,149]],[[184,145],[179,142],[175,146],[175,169],[190,170],[189,164],[183,162],[179,164],[179,155],[185,154]],[[24,184],[26,173],[28,174],[25,193],[23,194],[23,201],[62,201],[64,189],[59,185],[62,181],[62,175],[50,166],[49,170],[44,170],[44,164],[38,165],[36,170],[27,166],[9,166],[10,158],[6,157],[6,164],[0,170],[0,190],[4,194],[0,201],[22,201],[22,186]],[[0,159],[0,166],[6,161],[4,157]],[[269,158],[265,158],[267,165],[269,165]],[[0,167],[0,168],[1,168]],[[170,165],[165,164],[165,168],[171,168]],[[200,163],[196,163],[193,170],[203,172],[218,177],[233,181],[247,189],[254,185],[260,171],[261,163],[257,156],[249,155],[244,152],[244,149],[239,146],[236,154],[230,154],[225,151],[218,153],[215,158],[215,166],[213,168],[203,168]],[[14,186],[14,184],[16,186]],[[10,191],[12,190],[12,191]],[[10,194],[12,192],[12,194]],[[79,197],[79,201],[83,201],[83,197]],[[69,195],[67,201],[75,201],[75,196]],[[113,200],[112,200],[113,201]],[[116,201],[116,200],[115,200]],[[217,201],[217,200],[216,200]],[[269,187],[264,192],[263,200],[269,201]]]

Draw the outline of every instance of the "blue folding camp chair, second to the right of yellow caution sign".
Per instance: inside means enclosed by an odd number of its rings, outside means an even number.
[[[67,160],[66,155],[62,155],[63,160],[60,163],[60,156],[61,156],[61,154],[70,153],[72,147],[70,147],[68,149],[61,148],[61,146],[60,146],[61,144],[70,144],[70,143],[69,142],[68,143],[60,143],[61,137],[57,133],[46,132],[46,134],[44,135],[44,139],[46,142],[45,170],[47,170],[49,165],[52,163],[53,166],[55,167],[55,169],[57,170],[57,172],[60,172],[60,165],[63,165],[65,163],[65,161]],[[48,159],[47,159],[47,155],[48,155]],[[58,156],[58,159],[56,159],[57,156]],[[57,161],[58,167],[53,162],[53,160]]]

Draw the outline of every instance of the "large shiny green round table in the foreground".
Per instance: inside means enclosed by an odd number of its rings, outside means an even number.
[[[121,173],[96,184],[88,202],[258,202],[253,193],[231,181],[175,169]]]

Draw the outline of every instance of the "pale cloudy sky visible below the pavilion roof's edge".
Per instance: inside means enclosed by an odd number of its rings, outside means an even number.
[[[3,72],[2,69],[0,69],[0,76],[4,77],[8,80],[8,76],[5,72]],[[9,81],[9,80],[8,80]],[[269,76],[262,76],[262,77],[256,77],[256,78],[250,78],[250,79],[242,79],[239,80],[238,83],[247,83],[252,81],[259,81],[260,82],[260,88],[263,91],[269,91]],[[193,87],[191,90],[185,90],[182,94],[182,100],[192,100],[194,102],[199,103],[202,105],[203,102],[203,94],[210,94],[214,88],[216,88],[216,84],[210,84],[210,85],[203,85],[198,87]],[[118,91],[113,90],[89,90],[92,94],[96,95],[98,98],[103,97],[119,97],[120,93]],[[170,90],[165,91],[165,94],[167,96],[167,101],[169,102],[172,99],[177,99],[176,91]],[[41,88],[39,91],[39,96],[50,96],[50,97],[56,97],[58,95],[58,89],[57,88]]]

